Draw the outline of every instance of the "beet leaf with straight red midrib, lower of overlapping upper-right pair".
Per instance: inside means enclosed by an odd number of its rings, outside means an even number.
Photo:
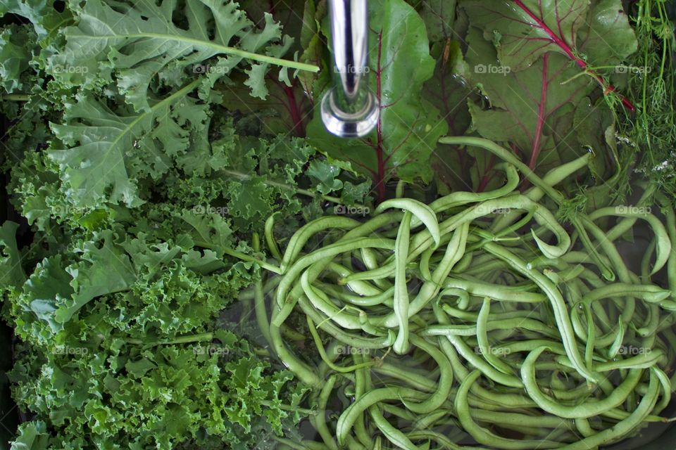
[[[472,126],[479,134],[513,143],[530,167],[538,165],[544,170],[577,157],[580,147],[568,143],[570,136],[560,133],[559,123],[570,123],[577,105],[592,91],[589,79],[579,77],[562,84],[576,70],[565,57],[553,53],[546,53],[525,70],[512,72],[509,66],[499,65],[492,44],[473,27],[468,43],[468,79],[481,87],[491,106],[484,110],[480,104],[469,103]]]

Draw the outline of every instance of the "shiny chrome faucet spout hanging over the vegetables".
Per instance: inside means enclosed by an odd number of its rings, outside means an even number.
[[[329,0],[329,16],[334,86],[322,99],[322,120],[336,136],[365,136],[380,114],[368,88],[368,1]]]

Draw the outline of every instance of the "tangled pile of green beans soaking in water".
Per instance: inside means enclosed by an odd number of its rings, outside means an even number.
[[[257,283],[256,318],[312,388],[318,436],[282,448],[589,450],[668,420],[668,202],[659,217],[605,207],[564,226],[554,186],[590,155],[540,178],[491,141],[443,141],[501,158],[503,185],[429,205],[386,200],[365,221],[323,217],[283,254],[266,224],[278,275]],[[632,265],[619,246],[639,219],[652,241]]]

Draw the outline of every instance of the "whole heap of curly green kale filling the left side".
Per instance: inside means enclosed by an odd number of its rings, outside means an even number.
[[[275,212],[283,239],[370,183],[227,101],[231,86],[264,96],[270,63],[308,67],[279,59],[291,39],[269,14],[258,29],[230,1],[67,6],[5,10],[37,30],[2,35],[18,57],[0,74],[16,117],[4,167],[32,231],[24,247],[16,224],[0,229],[9,376],[30,413],[13,448],[249,449],[293,433],[305,388],[234,334],[266,258],[247,242]],[[248,76],[227,77],[244,60]]]

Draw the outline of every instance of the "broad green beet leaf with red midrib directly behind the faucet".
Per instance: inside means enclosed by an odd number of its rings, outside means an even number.
[[[369,86],[380,104],[376,130],[365,139],[344,141],[329,134],[315,115],[308,136],[332,158],[348,160],[371,176],[382,199],[385,182],[394,176],[430,181],[430,155],[447,127],[422,96],[434,72],[423,19],[403,0],[372,1],[369,13]]]

